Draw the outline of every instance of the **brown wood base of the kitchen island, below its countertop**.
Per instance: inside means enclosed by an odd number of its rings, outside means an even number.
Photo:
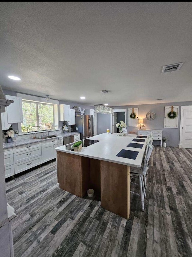
[[[57,151],[59,187],[84,197],[101,194],[101,207],[125,219],[130,214],[130,166]]]

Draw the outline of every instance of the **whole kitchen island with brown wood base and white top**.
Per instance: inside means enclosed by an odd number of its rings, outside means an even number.
[[[59,187],[79,197],[92,188],[101,193],[101,207],[128,219],[130,167],[141,167],[147,139],[103,133],[84,139],[79,152],[55,148]]]

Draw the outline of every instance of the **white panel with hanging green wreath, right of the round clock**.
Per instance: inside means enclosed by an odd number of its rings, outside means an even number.
[[[164,128],[179,127],[179,106],[165,106]]]

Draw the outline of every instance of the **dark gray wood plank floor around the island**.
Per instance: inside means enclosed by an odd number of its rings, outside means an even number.
[[[145,211],[131,195],[129,220],[60,189],[55,161],[6,186],[15,257],[192,256],[192,149],[154,147]]]

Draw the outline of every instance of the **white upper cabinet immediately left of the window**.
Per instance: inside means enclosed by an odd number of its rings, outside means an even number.
[[[6,99],[14,101],[9,106],[7,106],[7,122],[8,123],[23,122],[22,98],[18,96],[6,95]]]

